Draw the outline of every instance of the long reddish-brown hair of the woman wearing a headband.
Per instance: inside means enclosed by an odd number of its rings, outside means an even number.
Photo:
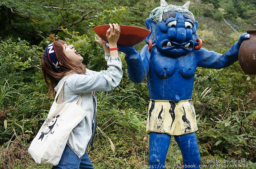
[[[44,81],[49,88],[48,96],[50,98],[55,97],[56,91],[54,90],[54,87],[56,87],[60,79],[62,79],[64,76],[72,73],[77,73],[77,74],[86,73],[86,69],[83,64],[81,64],[81,66],[76,66],[68,60],[67,56],[64,53],[64,48],[63,48],[64,44],[66,43],[63,40],[58,40],[54,43],[55,51],[56,51],[56,54],[58,55],[58,59],[61,64],[60,71],[56,71],[52,68],[52,65],[48,61],[45,52],[43,52],[42,54],[41,67],[44,75]]]

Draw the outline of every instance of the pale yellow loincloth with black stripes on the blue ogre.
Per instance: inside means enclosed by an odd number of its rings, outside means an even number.
[[[191,100],[179,103],[168,100],[150,100],[147,133],[184,135],[197,130],[196,113]]]

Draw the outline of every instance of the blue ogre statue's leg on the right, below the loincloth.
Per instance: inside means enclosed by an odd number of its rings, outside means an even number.
[[[174,138],[181,150],[183,165],[185,166],[184,169],[198,169],[201,163],[201,157],[196,140],[196,133],[174,136]]]

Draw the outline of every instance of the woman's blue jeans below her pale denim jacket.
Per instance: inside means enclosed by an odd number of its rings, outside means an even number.
[[[94,169],[92,162],[88,154],[84,155],[79,159],[78,156],[70,149],[68,144],[62,153],[60,162],[58,165],[52,166],[52,169]]]

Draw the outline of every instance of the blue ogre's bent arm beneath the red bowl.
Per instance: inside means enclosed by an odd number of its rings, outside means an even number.
[[[126,54],[125,61],[129,78],[135,83],[141,83],[147,77],[149,70],[148,45],[141,49],[141,53],[131,46],[118,46],[118,48]]]

